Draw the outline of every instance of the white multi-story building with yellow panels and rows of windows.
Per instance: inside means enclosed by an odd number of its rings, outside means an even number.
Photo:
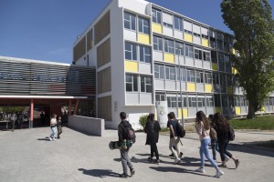
[[[233,35],[144,0],[112,0],[73,47],[74,63],[97,68],[97,116],[116,128],[119,113],[132,126],[167,101],[179,119],[246,115],[229,54]],[[274,112],[274,95],[262,112]],[[182,110],[183,109],[183,110]]]

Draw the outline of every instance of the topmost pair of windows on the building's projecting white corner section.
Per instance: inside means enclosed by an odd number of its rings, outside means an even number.
[[[142,16],[137,17],[137,15],[124,12],[124,28],[136,31],[137,29],[137,18],[138,18],[138,32],[142,34],[150,34],[150,23],[149,19]]]

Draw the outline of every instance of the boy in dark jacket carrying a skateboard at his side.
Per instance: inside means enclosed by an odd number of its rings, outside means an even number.
[[[119,177],[130,177],[128,167],[130,167],[131,176],[135,174],[131,158],[129,157],[130,147],[126,146],[126,140],[131,139],[130,131],[132,131],[132,125],[126,120],[126,116],[125,112],[120,113],[121,123],[118,126],[119,143],[121,144],[121,166],[123,170],[123,173]]]

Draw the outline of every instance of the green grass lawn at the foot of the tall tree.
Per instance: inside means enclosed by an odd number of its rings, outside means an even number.
[[[253,119],[229,120],[235,129],[274,130],[274,116],[257,116]]]

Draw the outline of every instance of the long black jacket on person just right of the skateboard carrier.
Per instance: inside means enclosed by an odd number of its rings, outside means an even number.
[[[160,130],[161,127],[158,121],[147,121],[144,128],[144,132],[146,133],[145,145],[152,145],[153,143],[158,143]]]

